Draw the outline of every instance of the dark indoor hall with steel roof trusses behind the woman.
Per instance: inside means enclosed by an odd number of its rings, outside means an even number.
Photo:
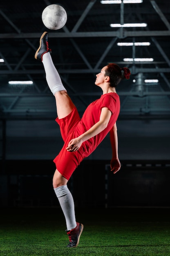
[[[0,2],[0,207],[58,207],[53,159],[63,141],[42,63],[34,59],[45,30],[54,64],[80,115],[101,95],[94,81],[103,66],[115,62],[132,73],[117,88],[121,171],[110,172],[107,136],[69,181],[76,206],[170,207],[169,1],[102,5],[99,0],[63,0],[68,20],[59,31],[42,24],[48,4],[52,2]],[[147,22],[148,27],[109,26],[122,17],[125,23]],[[151,44],[117,46],[139,41]],[[124,57],[152,57],[154,62],[128,63]],[[159,83],[144,82],[153,78]],[[8,85],[9,80],[28,79],[34,82],[30,87]]]

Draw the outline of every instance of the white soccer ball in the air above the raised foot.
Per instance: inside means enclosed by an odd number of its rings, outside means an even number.
[[[48,29],[61,29],[67,22],[67,13],[62,6],[50,4],[42,11],[42,22]]]

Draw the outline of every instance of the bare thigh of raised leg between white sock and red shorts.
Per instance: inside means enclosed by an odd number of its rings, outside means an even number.
[[[67,117],[67,115],[69,115],[75,107],[71,98],[67,94],[67,91],[63,90],[56,92],[55,98],[58,119]]]

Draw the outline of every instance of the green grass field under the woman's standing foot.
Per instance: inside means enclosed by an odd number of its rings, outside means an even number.
[[[67,248],[55,209],[1,209],[0,256],[170,256],[170,209],[77,209],[84,230]]]

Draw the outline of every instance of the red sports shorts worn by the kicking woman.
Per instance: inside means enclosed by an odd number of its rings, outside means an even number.
[[[81,148],[76,152],[69,152],[66,150],[69,141],[74,138],[74,129],[80,120],[81,118],[78,114],[77,108],[74,108],[67,117],[62,119],[58,119],[58,117],[56,118],[56,122],[60,126],[61,136],[64,140],[64,146],[54,159],[54,163],[56,164],[57,170],[67,180],[69,180],[76,167],[84,158]]]

